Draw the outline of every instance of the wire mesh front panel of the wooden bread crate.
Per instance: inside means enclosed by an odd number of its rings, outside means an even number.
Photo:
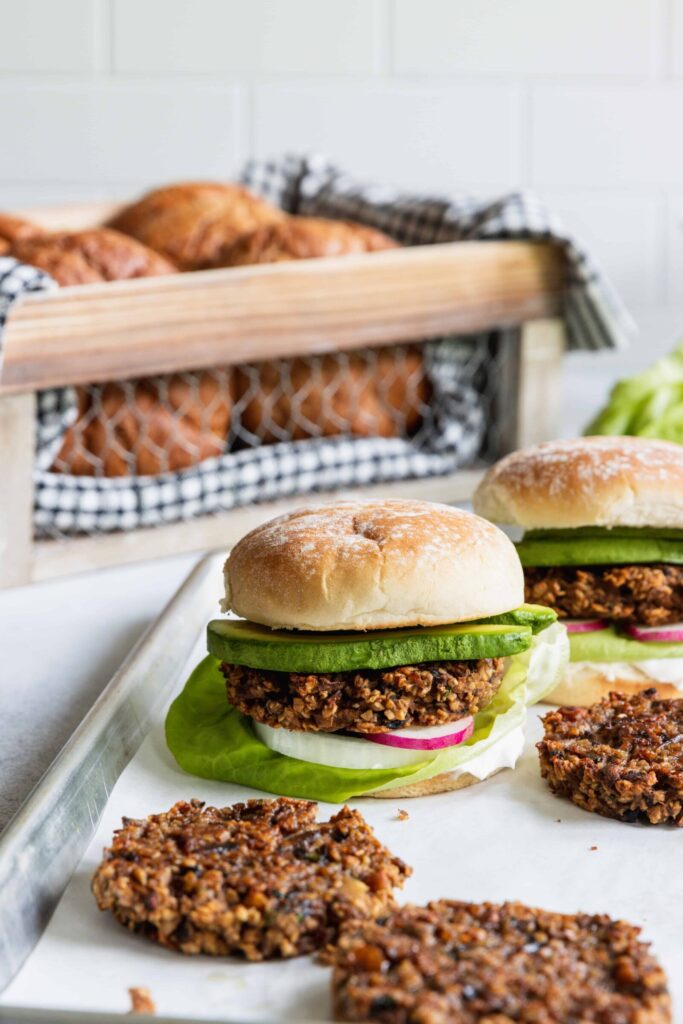
[[[36,535],[451,472],[513,445],[516,331],[42,392]]]

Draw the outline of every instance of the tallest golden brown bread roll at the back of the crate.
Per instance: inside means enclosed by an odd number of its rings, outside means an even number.
[[[167,256],[181,270],[216,265],[222,247],[286,214],[242,185],[188,182],[157,188],[127,206],[112,227]]]

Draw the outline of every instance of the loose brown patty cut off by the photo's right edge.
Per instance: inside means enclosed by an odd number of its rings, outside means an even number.
[[[558,797],[623,821],[683,825],[683,700],[610,693],[543,724],[541,774]]]

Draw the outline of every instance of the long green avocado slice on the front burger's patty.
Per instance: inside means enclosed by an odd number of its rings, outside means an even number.
[[[505,657],[527,650],[531,627],[465,623],[368,633],[269,630],[244,618],[215,618],[207,630],[214,657],[272,672],[351,672],[422,662]]]

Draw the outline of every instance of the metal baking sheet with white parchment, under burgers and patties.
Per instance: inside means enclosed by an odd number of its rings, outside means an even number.
[[[329,971],[309,958],[250,965],[183,957],[128,933],[97,910],[90,894],[101,849],[123,815],[142,817],[190,797],[222,805],[257,795],[185,775],[163,739],[165,708],[203,653],[220,561],[214,556],[198,566],[0,841],[4,1019],[100,1024],[129,1009],[127,989],[136,985],[151,989],[162,1019],[330,1019]],[[542,710],[529,712],[515,771],[459,793],[354,804],[414,867],[405,899],[521,899],[642,925],[680,1013],[680,835],[609,821],[554,798],[533,748]],[[399,820],[399,807],[408,820]],[[333,810],[322,804],[319,814]]]

